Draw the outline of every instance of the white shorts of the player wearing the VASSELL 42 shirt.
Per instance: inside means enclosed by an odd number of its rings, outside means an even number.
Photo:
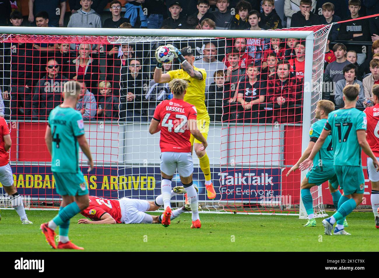
[[[189,177],[193,173],[191,152],[161,152],[161,171],[174,175],[176,170],[181,177]]]

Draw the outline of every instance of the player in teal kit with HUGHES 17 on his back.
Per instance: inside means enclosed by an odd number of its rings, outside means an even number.
[[[311,165],[312,159],[331,132],[334,147],[334,170],[343,195],[338,202],[337,212],[323,220],[325,235],[332,235],[332,228],[336,222],[334,235],[350,235],[344,230],[343,221],[362,202],[365,191],[361,149],[371,157],[376,171],[379,170],[379,162],[366,141],[366,115],[355,108],[359,97],[359,85],[347,85],[342,93],[345,107],[329,113],[324,130],[313,146],[311,154],[300,164],[301,170],[305,170]]]

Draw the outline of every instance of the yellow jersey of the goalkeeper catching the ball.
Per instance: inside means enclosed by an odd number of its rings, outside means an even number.
[[[209,119],[207,107],[205,106],[205,78],[207,78],[207,72],[204,68],[194,67],[194,70],[201,72],[203,75],[202,80],[192,78],[182,68],[180,70],[170,70],[168,74],[171,76],[171,80],[174,78],[179,78],[188,82],[188,88],[184,96],[184,101],[196,107],[197,120],[207,120]]]

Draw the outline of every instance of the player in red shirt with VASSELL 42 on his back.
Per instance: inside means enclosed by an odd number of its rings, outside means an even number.
[[[150,134],[161,132],[159,143],[161,148],[161,192],[165,208],[162,225],[168,227],[171,223],[171,179],[177,170],[187,192],[192,211],[191,228],[200,228],[199,202],[192,183],[193,161],[189,137],[192,134],[202,143],[201,150],[207,148],[207,140],[197,128],[196,107],[183,100],[188,82],[184,79],[174,78],[169,86],[173,98],[166,99],[157,106],[149,127]]]

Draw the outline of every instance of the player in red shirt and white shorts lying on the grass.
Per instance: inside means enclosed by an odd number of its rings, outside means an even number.
[[[171,197],[177,194],[183,194],[181,186],[175,186],[171,191]],[[159,195],[155,201],[121,198],[102,199],[96,196],[89,196],[89,206],[80,213],[85,217],[92,219],[79,219],[78,224],[139,224],[148,223],[156,224],[162,222],[163,214],[150,215],[145,211],[158,210],[163,205],[163,197]],[[170,219],[173,220],[180,214],[191,211],[191,207],[186,204],[182,208],[172,211]]]

